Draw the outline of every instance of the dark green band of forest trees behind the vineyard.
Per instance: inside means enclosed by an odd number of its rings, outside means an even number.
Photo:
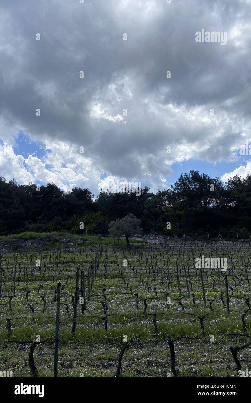
[[[15,179],[7,183],[0,177],[0,235],[86,230],[107,235],[109,222],[129,213],[141,220],[144,235],[156,231],[170,236],[249,237],[251,176],[235,176],[223,183],[191,170],[181,173],[170,189],[156,194],[148,187],[141,189],[141,195],[102,189],[95,199],[89,189],[74,187],[64,192],[47,183],[37,191],[36,184],[19,185]],[[80,222],[84,229],[79,228]]]

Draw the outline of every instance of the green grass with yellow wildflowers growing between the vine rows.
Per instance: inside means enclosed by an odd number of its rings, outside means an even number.
[[[19,234],[19,237],[32,243],[37,239],[42,239],[40,233]],[[68,233],[43,233],[44,239],[49,238],[49,246],[52,248],[53,237],[59,239],[60,244],[63,239],[76,240],[78,235]],[[14,237],[12,235],[11,237]],[[75,238],[74,238],[75,237]],[[85,238],[85,236],[83,235]],[[0,240],[2,240],[1,237]],[[89,244],[93,242],[90,237]],[[10,237],[5,237],[10,239]],[[16,239],[16,238],[13,238]],[[20,238],[19,238],[20,240]],[[110,241],[104,238],[104,241]],[[113,240],[112,240],[113,241]],[[116,370],[115,364],[123,343],[124,335],[127,335],[130,348],[124,353],[122,362],[122,376],[166,376],[170,372],[170,350],[167,337],[172,339],[177,336],[194,337],[200,333],[199,319],[195,316],[187,315],[187,312],[196,315],[205,315],[204,327],[205,335],[199,334],[196,339],[180,339],[175,342],[176,368],[178,376],[227,376],[227,373],[234,374],[234,362],[231,357],[229,346],[241,345],[247,341],[245,338],[236,339],[226,336],[226,333],[243,333],[241,314],[247,305],[245,298],[249,295],[245,276],[242,278],[241,260],[239,258],[239,248],[232,251],[232,258],[235,264],[234,274],[240,278],[240,285],[229,276],[229,284],[234,287],[234,295],[230,293],[230,313],[226,312],[226,305],[222,304],[219,293],[214,293],[212,283],[215,280],[215,289],[224,290],[224,278],[219,276],[219,272],[208,272],[208,278],[203,275],[206,298],[213,300],[214,312],[209,309],[209,303],[204,308],[203,293],[201,291],[201,281],[193,268],[191,248],[186,248],[185,258],[183,251],[180,253],[180,246],[170,244],[170,251],[164,249],[149,248],[150,262],[151,255],[158,257],[157,270],[145,263],[145,249],[126,249],[125,241],[119,241],[118,246],[110,245],[103,247],[103,254],[100,259],[98,271],[95,276],[93,289],[88,299],[88,268],[99,247],[89,247],[79,245],[78,247],[68,245],[66,250],[56,253],[53,251],[40,252],[39,244],[36,244],[35,254],[18,253],[13,255],[13,250],[2,254],[2,267],[4,268],[4,284],[2,287],[2,298],[0,299],[0,318],[18,318],[11,321],[12,332],[10,340],[36,340],[37,335],[41,340],[47,337],[54,337],[55,330],[55,308],[54,291],[57,282],[60,281],[64,289],[62,291],[61,303],[68,303],[71,317],[67,320],[65,305],[60,307],[60,348],[59,348],[59,376],[113,376]],[[66,243],[67,245],[67,243]],[[120,247],[121,246],[121,247]],[[181,245],[183,247],[183,245]],[[203,246],[204,247],[204,246]],[[175,249],[176,248],[176,249]],[[202,247],[201,247],[202,248]],[[209,245],[210,251],[212,245]],[[172,249],[172,250],[171,250]],[[147,251],[147,252],[148,252]],[[224,251],[225,252],[225,251]],[[247,253],[247,251],[243,251]],[[180,253],[180,256],[179,256]],[[190,253],[190,274],[195,293],[195,305],[191,294],[187,294],[185,275],[182,271],[182,263],[188,261]],[[204,252],[203,252],[204,253]],[[226,253],[226,252],[225,252]],[[230,251],[228,251],[230,253]],[[144,256],[142,256],[142,254]],[[36,259],[41,257],[41,274],[35,268]],[[123,261],[127,255],[129,264],[123,266]],[[47,258],[47,268],[45,270],[45,258]],[[168,289],[168,274],[166,260],[169,260],[171,282]],[[8,262],[9,259],[9,262]],[[16,295],[13,295],[13,271],[15,261],[20,264],[18,276],[20,284],[17,284]],[[30,260],[33,262],[35,272],[31,275]],[[160,276],[160,260],[162,260],[163,281]],[[178,260],[180,292],[176,283],[176,260]],[[24,283],[24,264],[27,262],[27,283]],[[105,265],[107,272],[105,274]],[[71,295],[75,293],[76,268],[81,267],[85,273],[87,310],[81,315],[80,305],[78,305],[77,328],[75,337],[72,337],[73,309]],[[17,265],[19,268],[19,266]],[[137,272],[136,269],[137,268]],[[64,271],[62,270],[64,269]],[[147,269],[147,270],[146,270]],[[155,272],[155,279],[153,274]],[[249,268],[250,273],[250,268]],[[124,280],[123,280],[124,279]],[[66,284],[67,280],[67,284]],[[149,291],[145,283],[149,285]],[[38,294],[39,286],[43,285]],[[130,287],[132,291],[130,291]],[[157,295],[154,287],[156,287]],[[106,288],[106,303],[108,305],[107,314],[117,315],[108,317],[108,330],[104,329],[103,307],[100,301],[104,301],[103,289]],[[29,290],[29,302],[26,301],[25,291]],[[139,309],[135,305],[135,293],[138,294]],[[166,305],[165,294],[168,293],[172,300],[170,305]],[[8,300],[12,295],[12,313],[9,312]],[[46,299],[46,311],[43,313],[43,301]],[[147,298],[147,312],[143,315],[143,299]],[[185,307],[184,312],[178,303],[181,298]],[[224,295],[225,300],[225,295]],[[29,303],[35,309],[34,320],[29,310]],[[237,312],[236,312],[237,311]],[[155,334],[152,313],[157,312],[158,335]],[[25,318],[21,319],[21,316]],[[53,316],[53,318],[52,318]],[[100,317],[100,318],[97,318]],[[251,332],[251,311],[245,317],[247,333]],[[214,343],[210,342],[210,337],[214,335]],[[14,376],[29,376],[30,370],[27,363],[29,346],[20,349],[19,344],[6,343],[7,323],[0,320],[0,363],[1,368],[15,370]],[[39,370],[39,376],[52,376],[53,374],[53,342],[48,341],[39,345],[35,349],[34,359]],[[148,358],[148,360],[147,360]],[[112,361],[114,365],[110,365]],[[251,365],[250,353],[248,349],[243,350],[240,358],[243,368]],[[160,372],[160,369],[162,370]],[[192,372],[195,369],[197,372]],[[160,375],[161,374],[161,375]]]

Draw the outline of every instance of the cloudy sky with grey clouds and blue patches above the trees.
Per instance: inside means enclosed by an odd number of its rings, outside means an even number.
[[[251,174],[251,0],[80,1],[0,0],[0,176],[96,196]]]

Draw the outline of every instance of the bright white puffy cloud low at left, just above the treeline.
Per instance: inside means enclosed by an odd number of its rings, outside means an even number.
[[[52,183],[54,182],[62,190],[73,189],[74,186],[88,187],[94,195],[100,189],[116,188],[116,183],[139,182],[139,179],[116,177],[108,175],[101,179],[103,173],[101,167],[85,154],[81,154],[79,147],[64,142],[44,144],[46,154],[43,158],[29,155],[24,158],[13,151],[7,156],[0,154],[0,170],[2,176],[9,181],[13,177],[18,183],[29,182]],[[151,190],[156,191],[157,185],[161,189],[166,185],[166,179],[159,176],[151,178],[148,174]],[[143,184],[142,184],[143,186]]]

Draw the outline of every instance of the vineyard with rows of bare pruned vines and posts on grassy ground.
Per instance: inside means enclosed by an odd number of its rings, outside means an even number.
[[[250,241],[131,246],[2,250],[0,371],[226,377],[251,368]],[[196,268],[202,256],[226,258],[226,271]]]

